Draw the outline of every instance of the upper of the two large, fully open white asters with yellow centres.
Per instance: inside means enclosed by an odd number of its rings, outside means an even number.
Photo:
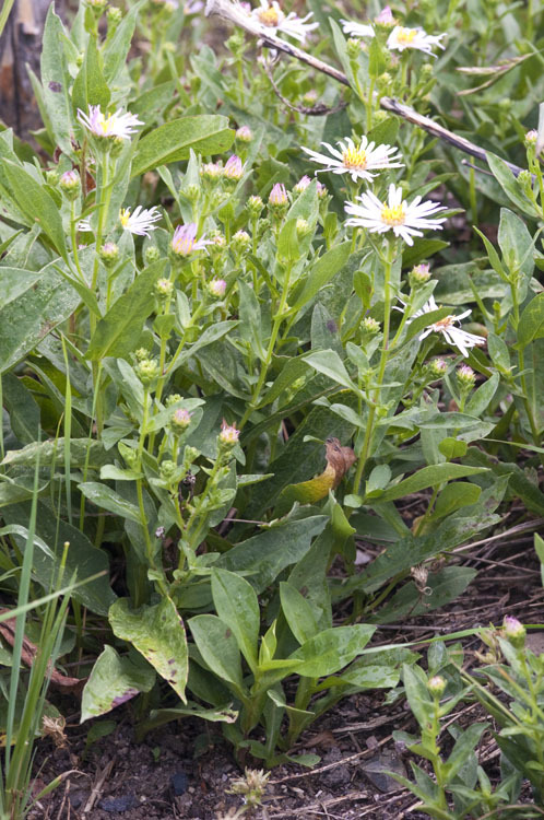
[[[309,148],[303,147],[303,151],[306,151],[314,162],[326,166],[319,171],[332,171],[333,174],[350,174],[354,183],[357,179],[372,180],[376,176],[376,174],[371,173],[372,171],[403,167],[403,163],[398,162],[401,159],[401,154],[398,153],[395,148],[391,145],[376,145],[375,142],[368,142],[366,137],[362,138],[358,145],[350,137],[346,138],[345,142],[336,142],[338,149],[328,142],[322,142],[321,144],[332,154],[332,157],[327,156],[327,154],[320,154],[317,151],[311,151]]]

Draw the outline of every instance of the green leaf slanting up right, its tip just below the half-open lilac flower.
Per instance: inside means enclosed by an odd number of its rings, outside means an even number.
[[[129,359],[130,353],[138,347],[144,320],[155,309],[153,286],[165,267],[166,259],[159,259],[137,276],[130,288],[98,321],[85,354],[86,359]]]

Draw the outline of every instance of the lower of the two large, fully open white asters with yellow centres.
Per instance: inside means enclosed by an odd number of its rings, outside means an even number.
[[[345,210],[353,218],[346,220],[346,225],[367,227],[370,233],[378,234],[393,231],[394,235],[401,236],[407,245],[414,244],[413,236],[423,236],[422,229],[439,229],[441,231],[441,223],[446,222],[445,216],[429,219],[439,211],[447,210],[444,206],[429,200],[422,202],[421,197],[416,197],[409,204],[402,198],[402,188],[398,188],[394,184],[389,186],[387,202],[380,202],[371,191],[367,191],[356,199],[360,204],[345,203]]]

